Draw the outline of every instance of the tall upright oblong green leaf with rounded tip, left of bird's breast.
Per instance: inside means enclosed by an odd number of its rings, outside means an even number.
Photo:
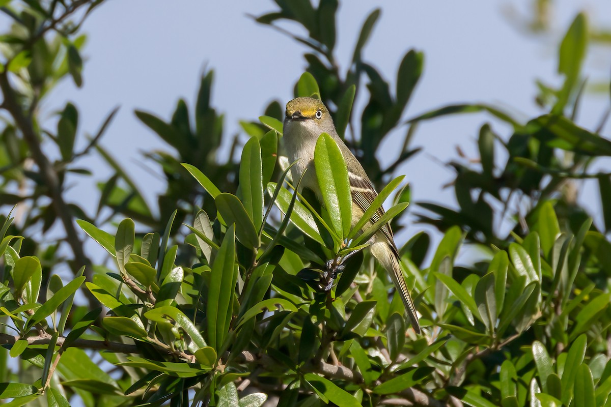
[[[240,161],[240,196],[255,229],[263,222],[263,164],[257,137],[251,137],[242,150]]]

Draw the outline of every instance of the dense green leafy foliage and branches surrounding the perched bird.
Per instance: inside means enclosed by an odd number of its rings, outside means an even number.
[[[143,157],[166,178],[156,208],[100,145],[116,109],[90,133],[71,103],[54,120],[40,117],[59,81],[82,85],[81,26],[102,2],[0,1],[13,21],[0,37],[0,398],[8,405],[611,406],[611,173],[591,170],[611,155],[600,134],[611,108],[599,123],[575,123],[585,92],[609,93],[608,77],[588,87],[582,75],[588,45],[609,46],[604,27],[575,17],[558,45],[562,83],[538,81],[544,113],[523,120],[491,104],[410,113],[424,53],[406,52],[392,81],[365,60],[379,10],[364,16],[347,61],[335,52],[336,0],[276,0],[252,16],[307,46],[295,96],[321,96],[391,197],[395,232],[411,203],[395,177],[420,151],[417,126],[489,114],[474,129],[478,156],[448,163],[458,206],[412,207],[442,236],[435,247],[419,232],[400,248],[422,315],[415,335],[386,274],[360,250],[364,241],[334,228],[345,208],[333,213],[285,184],[298,182],[285,171],[285,101],[227,135],[208,70],[195,106],[180,99],[169,119],[137,110],[167,144]],[[549,29],[553,2],[533,5],[532,16],[508,15],[536,34]],[[382,157],[391,133],[403,134],[403,146]],[[320,165],[339,173],[332,145],[320,151]],[[113,173],[91,209],[65,199],[65,179],[92,176],[93,154]],[[594,213],[579,200],[585,179],[598,182]],[[100,264],[82,231],[108,252]],[[455,264],[465,243],[482,259]],[[329,260],[342,266],[337,279]]]

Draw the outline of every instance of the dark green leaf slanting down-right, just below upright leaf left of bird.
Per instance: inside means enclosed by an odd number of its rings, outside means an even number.
[[[218,195],[214,202],[227,226],[235,225],[235,235],[238,240],[247,248],[256,250],[260,244],[257,229],[238,197],[224,192]]]

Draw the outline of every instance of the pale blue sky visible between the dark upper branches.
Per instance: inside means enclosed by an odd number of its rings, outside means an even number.
[[[502,106],[516,117],[527,119],[542,113],[534,102],[535,79],[552,85],[562,83],[557,70],[557,45],[580,10],[591,25],[611,27],[611,3],[556,1],[551,31],[529,34],[508,18],[507,10],[530,15],[531,1],[416,2],[387,0],[365,59],[390,79],[411,48],[425,53],[425,70],[412,96],[405,118],[414,117],[451,103],[485,102]],[[276,9],[271,1],[211,2],[132,0],[108,1],[87,20],[89,36],[82,52],[85,59],[84,86],[64,82],[42,106],[51,115],[70,100],[79,107],[79,134],[92,134],[115,106],[120,112],[102,144],[128,170],[155,207],[155,194],[164,189],[146,167],[141,151],[166,148],[155,134],[134,116],[134,109],[147,110],[167,119],[180,97],[193,106],[204,68],[215,71],[213,104],[225,113],[227,135],[240,131],[238,120],[255,120],[269,101],[288,101],[293,85],[305,69],[304,46],[247,17]],[[337,55],[345,69],[354,41],[372,2],[344,1],[340,4]],[[609,48],[593,49],[586,63],[591,80],[609,79]],[[360,101],[362,103],[362,101]],[[359,103],[359,101],[357,101]],[[595,128],[609,106],[609,94],[587,95],[578,123]],[[453,203],[452,189],[442,185],[453,172],[442,162],[455,159],[456,146],[475,156],[478,129],[485,114],[459,115],[423,123],[412,146],[424,152],[398,169],[407,174],[414,201]],[[503,137],[508,129],[494,123]],[[603,134],[609,134],[606,126]],[[382,145],[380,157],[393,160],[404,129]],[[96,181],[108,179],[110,171],[97,158],[87,159]],[[91,179],[73,176],[68,198],[78,201],[92,214],[99,192]],[[598,192],[587,185],[584,195],[590,207],[598,207]],[[415,207],[411,207],[413,212]],[[400,236],[404,241],[422,225],[410,225]],[[428,229],[428,228],[425,228]],[[430,229],[429,229],[430,230]],[[401,243],[401,242],[399,242]]]

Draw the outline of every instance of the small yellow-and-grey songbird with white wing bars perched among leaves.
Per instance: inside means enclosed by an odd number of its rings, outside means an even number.
[[[301,178],[305,168],[308,168],[301,181],[301,187],[311,189],[319,200],[322,201],[320,187],[316,180],[314,168],[314,148],[318,137],[327,133],[335,140],[342,151],[342,156],[348,167],[348,178],[350,181],[350,192],[352,195],[352,225],[356,225],[367,208],[373,203],[378,193],[373,188],[367,173],[360,165],[359,160],[344,144],[335,131],[335,124],[324,104],[315,98],[296,98],[287,103],[287,111],[284,119],[284,146],[287,150],[289,162],[298,161],[291,168],[293,179]],[[384,214],[380,207],[365,228],[373,225]],[[397,287],[401,300],[408,311],[409,320],[416,333],[420,333],[418,316],[409,295],[401,272],[401,260],[392,236],[392,230],[387,223],[370,240],[371,253],[386,268]]]

